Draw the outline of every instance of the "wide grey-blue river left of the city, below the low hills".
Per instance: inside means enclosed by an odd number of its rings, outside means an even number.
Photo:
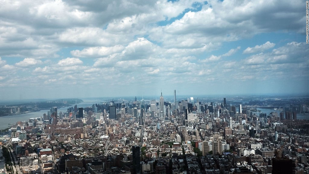
[[[77,107],[92,107],[92,104],[99,103],[99,101],[95,100],[83,100],[84,102],[78,103]],[[70,107],[74,108],[75,105],[72,105]],[[57,112],[62,112],[63,114],[66,113],[67,109],[69,107],[61,107],[57,108]],[[0,117],[0,130],[9,128],[11,123],[15,123],[18,121],[26,121],[29,120],[30,118],[36,118],[36,117],[43,117],[43,114],[47,114],[48,110],[41,110],[37,112],[29,112],[26,114],[18,114],[18,115],[8,115],[8,116],[3,116]]]

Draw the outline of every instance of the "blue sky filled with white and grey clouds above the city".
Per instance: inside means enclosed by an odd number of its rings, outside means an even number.
[[[309,94],[306,1],[0,0],[0,100]]]

